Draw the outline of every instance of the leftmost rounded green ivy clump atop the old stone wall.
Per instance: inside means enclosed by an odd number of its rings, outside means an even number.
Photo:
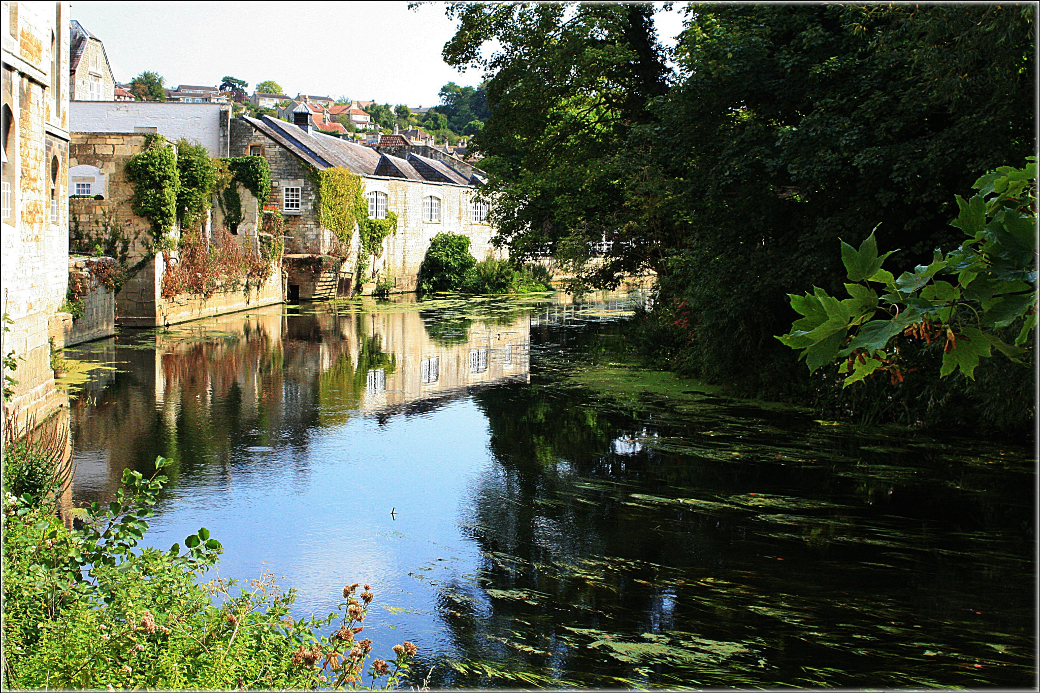
[[[152,222],[156,247],[167,247],[168,234],[177,221],[177,193],[180,189],[175,149],[162,135],[149,135],[145,140],[145,151],[127,161],[126,174],[134,186],[134,214]]]

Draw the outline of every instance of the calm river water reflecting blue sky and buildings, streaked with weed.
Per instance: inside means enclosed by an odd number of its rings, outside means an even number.
[[[276,305],[70,349],[77,505],[173,460],[296,616],[370,583],[432,688],[1033,687],[1033,450],[726,399],[616,353],[638,294]],[[968,433],[968,432],[966,432]]]

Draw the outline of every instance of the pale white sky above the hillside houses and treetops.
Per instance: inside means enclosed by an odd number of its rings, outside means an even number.
[[[660,4],[660,3],[655,3]],[[441,3],[77,2],[72,18],[101,38],[118,82],[145,70],[177,84],[216,86],[225,75],[250,92],[274,80],[285,92],[436,106],[447,82],[475,86],[479,71],[441,59],[456,29]],[[667,38],[676,9],[655,16]]]

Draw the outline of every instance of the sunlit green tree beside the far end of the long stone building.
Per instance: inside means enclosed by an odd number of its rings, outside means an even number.
[[[626,205],[621,174],[629,132],[656,119],[648,103],[668,90],[652,12],[648,5],[448,5],[459,29],[445,61],[487,73],[491,113],[474,143],[491,174],[485,189],[496,201],[498,241],[515,255],[548,245],[580,260],[591,242],[627,241],[629,251],[601,272],[604,282],[660,259],[658,230]],[[491,42],[500,48],[486,58]]]

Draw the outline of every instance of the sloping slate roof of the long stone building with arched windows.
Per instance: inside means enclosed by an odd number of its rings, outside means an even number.
[[[307,131],[285,121],[278,121],[266,115],[262,118],[248,115],[240,117],[304,161],[318,168],[341,166],[352,174],[360,176],[387,176],[412,181],[439,181],[456,185],[470,185],[465,176],[440,161],[414,154],[410,154],[407,160],[388,154],[380,154],[370,146],[356,144],[349,140],[332,137],[320,132]]]

